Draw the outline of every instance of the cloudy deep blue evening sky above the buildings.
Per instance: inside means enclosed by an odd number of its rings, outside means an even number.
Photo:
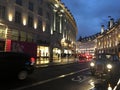
[[[75,18],[78,35],[94,35],[101,30],[101,25],[108,24],[111,16],[115,21],[120,18],[120,0],[61,0]]]

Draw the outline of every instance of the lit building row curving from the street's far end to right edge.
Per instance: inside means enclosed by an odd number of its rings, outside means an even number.
[[[76,52],[84,53],[93,49],[97,53],[116,53],[120,56],[120,19],[114,22],[111,18],[107,29],[101,25],[100,33],[81,38],[77,41]]]

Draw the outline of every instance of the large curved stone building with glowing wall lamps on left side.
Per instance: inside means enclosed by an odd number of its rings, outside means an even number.
[[[0,0],[0,50],[26,52],[36,64],[75,53],[76,22],[60,0]]]

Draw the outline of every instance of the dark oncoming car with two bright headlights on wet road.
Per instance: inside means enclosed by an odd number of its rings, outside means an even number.
[[[115,75],[119,73],[120,61],[117,54],[100,53],[90,62],[92,75]]]

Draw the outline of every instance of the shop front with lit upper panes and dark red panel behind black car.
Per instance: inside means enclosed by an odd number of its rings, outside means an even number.
[[[24,52],[36,59],[37,45],[35,42],[27,40],[30,40],[29,33],[9,28],[0,23],[0,51]]]

